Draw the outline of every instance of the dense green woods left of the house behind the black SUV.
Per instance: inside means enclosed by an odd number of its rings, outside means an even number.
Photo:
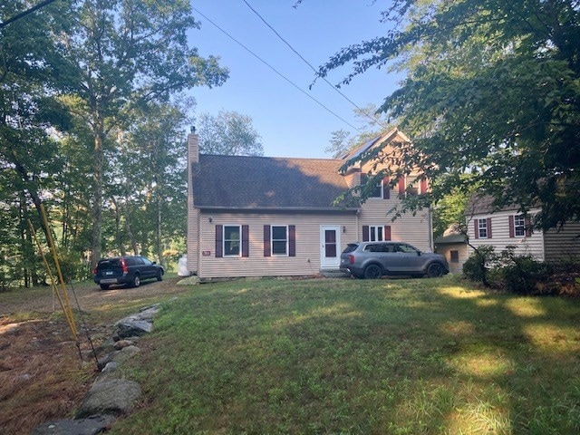
[[[31,6],[3,2],[0,19]],[[3,26],[0,288],[44,281],[28,219],[53,232],[73,279],[108,254],[167,264],[185,251],[194,102],[180,95],[227,79],[189,47],[196,27],[182,0],[61,0]]]

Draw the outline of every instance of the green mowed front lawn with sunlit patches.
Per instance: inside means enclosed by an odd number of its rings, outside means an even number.
[[[580,300],[457,277],[198,285],[124,375],[117,434],[580,432]]]

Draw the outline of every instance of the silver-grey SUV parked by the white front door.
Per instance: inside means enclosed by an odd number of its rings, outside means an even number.
[[[437,277],[449,273],[444,256],[421,252],[403,242],[350,243],[341,255],[341,269],[367,279],[382,275]]]

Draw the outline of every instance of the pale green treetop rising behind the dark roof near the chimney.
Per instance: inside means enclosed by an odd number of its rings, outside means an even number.
[[[263,156],[261,139],[247,115],[219,111],[217,116],[199,116],[199,150],[205,154]]]

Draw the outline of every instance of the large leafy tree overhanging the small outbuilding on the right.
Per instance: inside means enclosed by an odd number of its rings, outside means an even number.
[[[498,208],[540,206],[537,227],[580,219],[577,0],[394,0],[382,16],[387,34],[344,48],[319,75],[346,64],[343,83],[372,67],[406,72],[380,111],[413,146],[401,144],[398,161],[381,156],[378,175],[419,167],[438,181],[407,206],[476,186]]]

